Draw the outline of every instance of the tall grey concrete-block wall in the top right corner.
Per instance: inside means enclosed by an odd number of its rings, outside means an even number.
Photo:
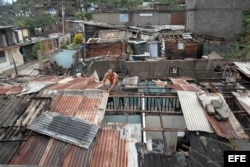
[[[196,35],[237,38],[248,0],[186,0],[186,30]]]

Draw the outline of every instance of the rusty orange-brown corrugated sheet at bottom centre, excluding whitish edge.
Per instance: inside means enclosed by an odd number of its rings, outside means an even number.
[[[127,141],[119,130],[102,129],[95,144],[91,167],[128,166]]]

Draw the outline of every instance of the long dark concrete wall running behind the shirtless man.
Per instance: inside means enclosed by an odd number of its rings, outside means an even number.
[[[193,77],[196,79],[204,78],[221,78],[222,73],[215,73],[214,69],[217,65],[223,67],[235,61],[233,59],[221,60],[163,60],[158,62],[130,62],[130,61],[96,61],[91,66],[90,74],[97,71],[100,78],[104,73],[112,68],[115,71],[123,69],[128,72],[129,76],[139,76],[142,78],[168,78],[170,67],[179,67],[179,76]],[[243,60],[241,60],[243,61]]]

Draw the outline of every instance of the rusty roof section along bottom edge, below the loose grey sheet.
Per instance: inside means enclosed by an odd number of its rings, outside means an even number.
[[[135,150],[137,140],[133,136],[140,134],[140,127],[140,124],[106,124],[99,130],[89,149],[34,133],[21,144],[9,164],[136,167],[138,166]]]

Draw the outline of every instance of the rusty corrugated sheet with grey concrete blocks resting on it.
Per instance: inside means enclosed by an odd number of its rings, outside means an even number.
[[[226,121],[217,121],[214,116],[207,115],[215,133],[218,136],[225,137],[227,139],[249,139],[248,135],[245,133],[242,126],[228,107],[223,95],[215,93],[214,96],[218,96],[221,100],[223,100],[223,103],[227,106],[229,111],[229,118]]]

